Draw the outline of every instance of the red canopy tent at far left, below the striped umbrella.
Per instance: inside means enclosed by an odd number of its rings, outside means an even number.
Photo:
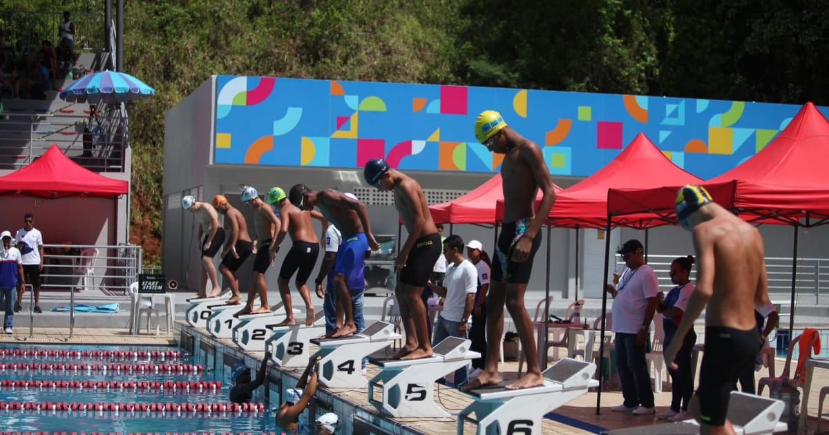
[[[52,145],[31,165],[0,176],[0,195],[64,198],[116,198],[129,193],[127,181],[113,180],[81,167]]]

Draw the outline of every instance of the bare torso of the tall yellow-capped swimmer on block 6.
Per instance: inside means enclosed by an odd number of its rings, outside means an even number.
[[[536,145],[524,140],[518,146],[507,151],[501,165],[504,192],[504,222],[514,222],[535,215],[534,205],[538,181],[533,171],[532,162],[536,156],[526,147]]]

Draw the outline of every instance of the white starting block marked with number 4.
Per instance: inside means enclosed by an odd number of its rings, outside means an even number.
[[[362,388],[366,378],[361,373],[362,359],[390,346],[400,338],[395,326],[376,321],[359,334],[346,338],[313,339],[319,346],[319,381],[329,388]]]

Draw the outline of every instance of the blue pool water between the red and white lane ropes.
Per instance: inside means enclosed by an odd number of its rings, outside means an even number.
[[[65,356],[49,356],[33,358],[32,355],[8,355],[8,350],[171,350],[169,347],[158,346],[0,346],[6,350],[2,356],[4,368],[0,368],[0,431],[12,432],[70,432],[70,433],[282,433],[275,424],[274,413],[269,410],[269,404],[264,404],[264,412],[179,412],[177,410],[159,412],[141,411],[61,411],[52,410],[51,405],[46,410],[12,410],[6,409],[5,404],[45,404],[45,403],[80,403],[80,404],[227,404],[230,392],[230,380],[221,379],[221,374],[211,372],[198,373],[156,373],[154,370],[129,371],[121,370],[27,370],[23,368],[9,368],[10,363],[50,363],[50,364],[102,364],[102,365],[167,365],[192,364],[191,356],[182,354],[180,358],[97,358],[81,356],[67,358]],[[31,366],[30,366],[31,367]],[[45,387],[36,386],[8,386],[8,381],[41,380],[41,381],[147,381],[147,382],[195,382],[219,381],[221,389],[133,389],[133,388],[52,388],[51,382]],[[32,384],[32,383],[30,383]],[[88,384],[87,384],[88,385]],[[264,387],[262,387],[264,388]],[[12,405],[13,406],[13,405]],[[25,406],[25,405],[24,405]],[[32,406],[32,405],[29,405]],[[203,405],[202,405],[203,406]],[[278,406],[278,404],[274,404]],[[119,407],[120,408],[120,407]],[[96,408],[97,409],[97,408]]]

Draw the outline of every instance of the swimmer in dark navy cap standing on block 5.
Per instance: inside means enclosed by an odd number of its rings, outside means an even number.
[[[395,208],[406,225],[409,237],[400,248],[395,267],[400,269],[395,296],[400,302],[400,320],[406,332],[406,344],[391,356],[392,360],[417,360],[433,355],[429,341],[429,321],[420,293],[440,257],[441,241],[434,225],[426,196],[417,181],[403,172],[391,169],[381,158],[370,160],[363,170],[369,186],[380,191],[393,191]]]

